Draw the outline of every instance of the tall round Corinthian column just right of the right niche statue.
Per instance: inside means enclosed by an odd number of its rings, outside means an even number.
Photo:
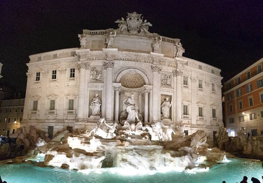
[[[175,120],[176,122],[182,121],[182,75],[181,70],[174,70],[173,73],[176,75],[176,111],[175,111]]]

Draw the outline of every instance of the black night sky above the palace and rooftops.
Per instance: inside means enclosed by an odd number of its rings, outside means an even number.
[[[79,47],[82,29],[118,28],[133,11],[150,32],[181,39],[183,56],[220,68],[223,81],[263,57],[261,1],[1,0],[0,84],[25,91],[29,55]]]

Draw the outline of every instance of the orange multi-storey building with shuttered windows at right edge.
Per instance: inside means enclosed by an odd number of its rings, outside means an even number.
[[[263,58],[226,81],[225,120],[229,136],[242,127],[250,136],[263,133]]]

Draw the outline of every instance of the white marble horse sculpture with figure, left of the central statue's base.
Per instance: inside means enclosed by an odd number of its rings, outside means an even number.
[[[109,129],[103,129],[102,125],[105,124]],[[88,136],[91,136],[92,133],[94,133],[97,136],[102,137],[103,139],[112,139],[116,136],[114,133],[116,130],[117,123],[114,123],[112,126],[106,123],[105,118],[99,119],[99,122],[95,126],[93,130],[91,130],[88,134]]]

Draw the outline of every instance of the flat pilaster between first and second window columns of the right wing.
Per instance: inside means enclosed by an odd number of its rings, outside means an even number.
[[[197,79],[194,77],[190,77],[191,80],[191,121],[193,125],[196,125],[196,116],[197,116],[197,108],[196,108],[196,81]]]

